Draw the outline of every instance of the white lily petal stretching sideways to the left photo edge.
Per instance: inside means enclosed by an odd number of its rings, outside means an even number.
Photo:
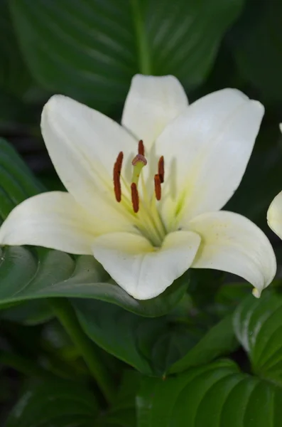
[[[95,237],[91,217],[63,191],[26,199],[0,228],[0,245],[36,245],[86,255],[92,255]]]

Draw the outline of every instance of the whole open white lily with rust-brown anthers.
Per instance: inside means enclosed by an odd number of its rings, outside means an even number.
[[[219,210],[239,186],[263,115],[233,89],[188,106],[173,76],[136,75],[121,125],[55,95],[41,128],[68,192],[16,206],[0,243],[94,255],[139,300],[190,267],[240,275],[259,297],[276,273],[271,244],[248,219]]]

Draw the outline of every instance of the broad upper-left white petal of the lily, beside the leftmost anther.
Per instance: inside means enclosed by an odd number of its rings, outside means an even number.
[[[97,216],[109,221],[119,216],[122,222],[112,174],[121,151],[127,156],[122,173],[129,169],[137,149],[134,137],[109,117],[63,95],[51,97],[43,108],[41,130],[60,179],[77,202]]]

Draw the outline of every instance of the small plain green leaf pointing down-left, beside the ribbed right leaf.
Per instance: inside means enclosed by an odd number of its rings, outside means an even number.
[[[238,347],[232,327],[232,316],[225,317],[212,327],[185,356],[175,362],[169,373],[185,371],[190,367],[212,362],[216,357],[228,355]]]

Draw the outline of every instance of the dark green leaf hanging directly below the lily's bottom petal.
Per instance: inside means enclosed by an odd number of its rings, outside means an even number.
[[[85,333],[100,347],[143,374],[163,376],[202,336],[173,315],[148,319],[102,301],[72,302]]]

